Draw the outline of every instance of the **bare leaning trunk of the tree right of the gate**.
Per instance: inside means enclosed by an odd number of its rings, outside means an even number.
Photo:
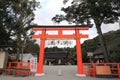
[[[101,44],[101,47],[102,47],[102,50],[103,50],[104,60],[105,60],[105,62],[108,62],[108,50],[107,50],[106,43],[104,41],[104,37],[103,37],[102,31],[101,31],[101,27],[96,25],[96,29],[97,29],[100,44]]]

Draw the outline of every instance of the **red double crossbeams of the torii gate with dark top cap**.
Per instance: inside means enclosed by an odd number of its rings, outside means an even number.
[[[88,25],[72,25],[72,26],[32,26],[33,30],[40,30],[42,31],[41,34],[33,35],[33,38],[41,38],[41,39],[48,39],[48,38],[88,38],[87,34],[81,34],[79,33],[79,30],[88,30]],[[47,30],[58,30],[58,34],[46,34]],[[63,30],[75,30],[75,34],[66,35],[63,34]]]

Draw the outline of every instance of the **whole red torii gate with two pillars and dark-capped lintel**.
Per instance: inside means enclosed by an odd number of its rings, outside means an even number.
[[[44,63],[44,47],[46,39],[53,38],[72,38],[76,40],[76,53],[77,53],[77,76],[85,76],[84,68],[82,63],[82,51],[81,51],[81,38],[88,38],[87,34],[81,34],[80,30],[88,30],[89,27],[87,25],[79,25],[79,26],[34,26],[33,30],[41,31],[41,34],[33,35],[33,38],[40,38],[40,52],[39,52],[39,61],[37,66],[36,76],[44,75],[43,73],[43,63]],[[58,34],[47,34],[46,31],[58,31]],[[74,30],[75,34],[63,34],[63,30]]]

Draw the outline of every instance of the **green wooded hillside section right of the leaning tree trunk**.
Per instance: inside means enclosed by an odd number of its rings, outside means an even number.
[[[120,30],[111,33],[112,35],[109,41],[109,60],[111,62],[120,62]]]

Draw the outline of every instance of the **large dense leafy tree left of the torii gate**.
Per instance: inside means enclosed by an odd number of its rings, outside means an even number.
[[[0,26],[4,34],[8,36],[6,40],[9,41],[11,38],[16,42],[17,53],[23,53],[25,44],[31,39],[33,32],[30,31],[29,25],[34,19],[33,11],[37,7],[39,7],[39,2],[36,0],[0,1]],[[4,34],[1,33],[1,35]]]

